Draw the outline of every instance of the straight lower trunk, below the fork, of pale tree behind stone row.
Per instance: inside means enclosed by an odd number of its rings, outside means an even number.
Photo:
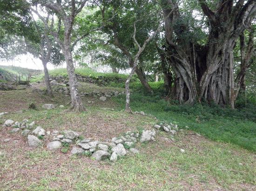
[[[86,108],[84,107],[81,101],[81,97],[77,89],[77,79],[74,72],[72,53],[68,45],[65,47],[64,57],[67,63],[67,75],[68,75],[68,82],[70,86],[70,95],[71,95],[70,110],[86,111]]]

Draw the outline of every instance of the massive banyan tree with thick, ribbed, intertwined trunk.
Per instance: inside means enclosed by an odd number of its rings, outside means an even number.
[[[165,16],[165,52],[175,72],[172,95],[182,103],[204,100],[234,107],[233,49],[239,36],[250,31],[255,19],[255,0],[218,0],[210,8],[205,0],[198,0],[203,17],[208,20],[207,42],[199,44],[182,20],[177,0],[163,0]]]

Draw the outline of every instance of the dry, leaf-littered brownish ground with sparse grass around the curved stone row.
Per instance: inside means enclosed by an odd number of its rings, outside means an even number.
[[[23,90],[0,91],[0,118],[36,121],[45,130],[74,130],[83,137],[111,139],[129,130],[151,129],[158,119],[130,115],[108,98],[95,97],[82,101],[88,112],[67,112],[69,97],[40,95],[34,83]],[[81,83],[80,91],[123,90]],[[116,98],[115,98],[116,99]],[[93,103],[88,103],[88,100]],[[29,110],[34,102],[38,110]],[[41,105],[54,103],[65,108],[44,110]],[[21,112],[22,111],[22,112]],[[189,126],[189,124],[188,124]],[[137,144],[139,154],[129,154],[115,163],[95,161],[87,156],[72,156],[70,151],[49,151],[46,146],[32,149],[26,138],[10,134],[9,127],[0,127],[0,190],[256,190],[256,155],[229,143],[209,140],[193,131],[184,130],[175,141],[160,133],[155,142]],[[10,142],[2,140],[11,138]],[[49,140],[46,140],[46,143]],[[184,149],[182,153],[180,149]]]

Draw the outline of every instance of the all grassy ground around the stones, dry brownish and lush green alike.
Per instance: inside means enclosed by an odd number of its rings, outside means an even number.
[[[119,87],[99,87],[81,83],[80,91],[119,90]],[[162,83],[151,83],[162,89]],[[82,138],[106,140],[123,135],[126,131],[150,129],[153,124],[166,120],[189,130],[166,141],[170,135],[157,134],[156,141],[136,143],[139,154],[128,154],[115,163],[97,162],[91,156],[72,156],[74,144],[62,146],[62,151],[49,151],[46,142],[38,149],[27,146],[19,133],[8,134],[11,128],[0,126],[0,190],[256,190],[255,111],[252,108],[230,110],[207,105],[176,105],[161,97],[145,95],[138,83],[133,83],[132,109],[150,116],[129,115],[123,112],[124,96],[100,102],[98,98],[82,98],[88,112],[66,112],[65,108],[41,108],[43,103],[65,105],[69,97],[56,95],[53,99],[32,92],[32,88],[0,91],[0,112],[9,114],[0,118],[29,122],[35,121],[46,131],[74,130]],[[24,96],[20,96],[24,95]],[[91,100],[94,103],[88,104]],[[37,110],[28,109],[34,102]],[[22,112],[17,113],[16,111]],[[196,120],[197,119],[197,120]],[[193,130],[193,131],[191,131]],[[204,136],[198,136],[195,132]],[[11,138],[8,143],[2,139]],[[208,139],[210,138],[210,139]],[[247,140],[247,141],[246,141]],[[246,149],[244,149],[246,148]],[[185,152],[180,152],[184,149]]]

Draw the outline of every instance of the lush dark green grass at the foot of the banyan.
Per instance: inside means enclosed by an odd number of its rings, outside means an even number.
[[[211,140],[232,143],[256,152],[256,110],[255,107],[230,109],[216,105],[180,105],[162,99],[161,93],[155,96],[144,94],[143,89],[131,94],[133,111],[144,111],[160,120],[175,122],[180,127],[205,135]],[[157,88],[161,84],[156,83]],[[114,97],[119,109],[125,107],[125,96]]]

